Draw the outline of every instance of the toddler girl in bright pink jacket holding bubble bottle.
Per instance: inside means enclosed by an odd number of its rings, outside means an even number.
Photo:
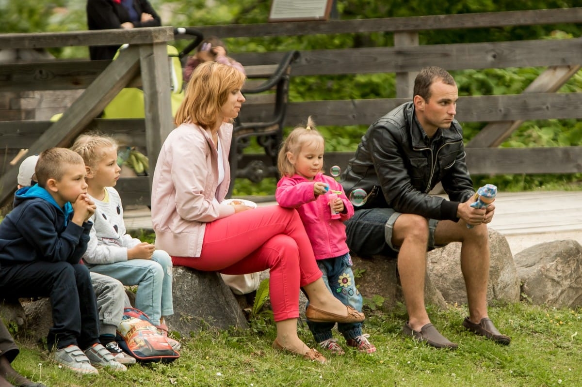
[[[361,311],[362,296],[354,281],[343,224],[353,216],[354,207],[342,185],[321,173],[323,159],[324,138],[309,117],[307,126],[294,128],[279,151],[282,178],[275,198],[280,206],[299,212],[329,291],[345,305]],[[307,320],[307,325],[323,349],[337,355],[345,353],[337,339],[332,338],[335,323]],[[361,322],[338,323],[338,330],[348,346],[364,353],[376,352],[376,347],[368,341],[369,335],[362,334],[361,325]]]

